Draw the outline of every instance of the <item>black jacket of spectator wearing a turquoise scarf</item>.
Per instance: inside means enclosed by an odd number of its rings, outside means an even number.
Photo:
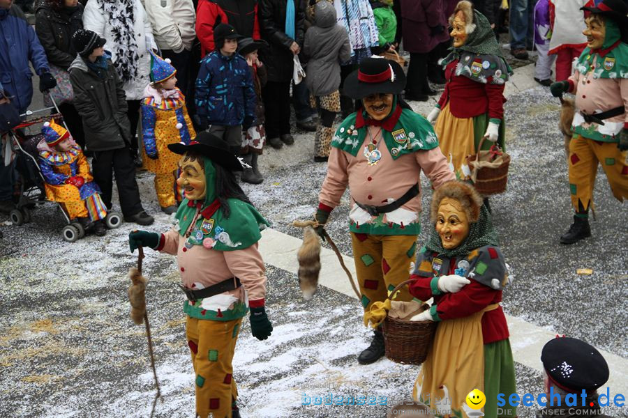
[[[293,54],[290,45],[296,41],[303,47],[305,13],[303,3],[294,0],[294,35],[285,34],[286,0],[260,0],[257,6],[262,39],[269,44],[260,51],[260,61],[266,65],[269,82],[289,82],[292,79]]]

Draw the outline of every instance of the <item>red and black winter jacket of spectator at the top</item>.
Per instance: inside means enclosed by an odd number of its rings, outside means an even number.
[[[201,42],[201,56],[216,49],[214,26],[218,17],[245,38],[262,38],[256,0],[200,0],[196,8],[196,36]]]

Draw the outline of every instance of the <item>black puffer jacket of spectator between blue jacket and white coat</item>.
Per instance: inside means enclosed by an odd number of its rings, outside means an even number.
[[[73,34],[83,28],[83,5],[78,3],[71,14],[52,10],[40,4],[36,10],[35,31],[43,46],[48,62],[67,70],[76,58],[72,43]]]

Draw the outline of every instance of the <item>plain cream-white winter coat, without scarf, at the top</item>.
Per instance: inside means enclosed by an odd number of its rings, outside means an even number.
[[[196,37],[196,12],[192,0],[144,0],[144,7],[160,49],[174,52],[192,49]]]

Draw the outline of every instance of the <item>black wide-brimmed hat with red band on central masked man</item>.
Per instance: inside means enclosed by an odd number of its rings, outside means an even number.
[[[362,99],[375,93],[398,94],[403,88],[405,74],[398,63],[384,58],[367,58],[347,76],[343,93],[352,99]]]

